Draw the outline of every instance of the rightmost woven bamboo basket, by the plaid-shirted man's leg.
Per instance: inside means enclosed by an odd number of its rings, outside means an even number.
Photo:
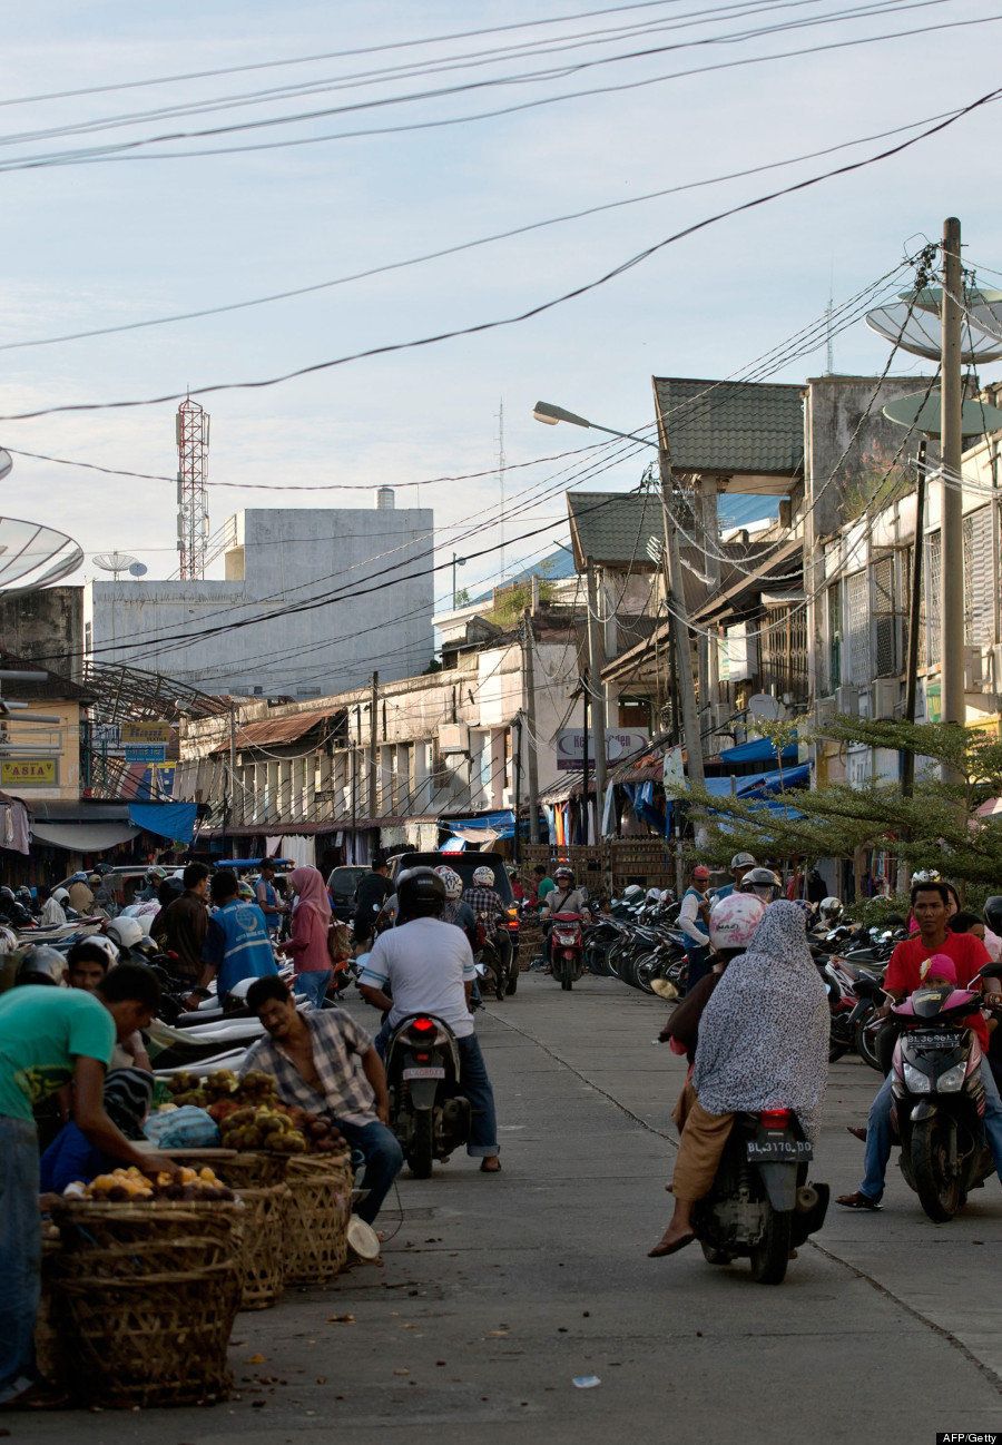
[[[320,1285],[344,1269],[351,1218],[351,1155],[294,1155],[285,1218],[285,1279]]]

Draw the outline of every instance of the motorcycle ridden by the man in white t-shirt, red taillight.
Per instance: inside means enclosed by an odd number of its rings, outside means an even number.
[[[386,1049],[389,1124],[416,1179],[470,1137],[473,1110],[460,1092],[460,1049],[450,1026],[432,1014],[403,1019]]]

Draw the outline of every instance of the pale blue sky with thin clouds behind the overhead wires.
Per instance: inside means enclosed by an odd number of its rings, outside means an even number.
[[[39,0],[12,10],[4,19],[0,169],[14,158],[165,131],[360,101],[395,103],[215,140],[137,147],[121,153],[127,159],[4,171],[0,415],[185,387],[198,394],[211,383],[257,380],[518,315],[593,282],[704,217],[875,153],[905,134],[538,228],[308,296],[119,335],[17,345],[309,286],[565,212],[784,160],[967,105],[998,84],[1002,20],[992,22],[990,7],[970,0],[875,0],[870,9],[885,13],[723,39],[766,25],[818,22],[844,14],[850,4],[855,9],[860,0],[746,0],[727,9],[706,0],[668,0],[588,17],[583,13],[603,9],[600,0],[539,0],[535,6],[525,0],[477,6],[458,0],[202,0],[195,6],[176,0],[169,7]],[[554,23],[402,48],[402,42],[541,19]],[[661,78],[693,66],[947,25],[956,27]],[[607,33],[623,26],[643,30]],[[591,36],[600,43],[560,55],[494,56],[493,64],[476,68],[457,59],[453,69],[438,74],[398,72],[346,84],[361,71],[428,66],[497,46],[570,45],[583,32],[606,33]],[[577,74],[516,79],[568,62],[681,43],[687,48]],[[351,49],[369,53],[23,103],[55,91]],[[337,78],[341,85],[333,90]],[[487,79],[503,84],[484,85]],[[638,88],[638,81],[652,84]],[[471,82],[479,88],[399,98]],[[283,85],[315,92],[253,107],[241,100],[213,114],[129,121],[97,133],[26,139],[53,127]],[[493,118],[429,124],[610,85],[633,88]],[[542,488],[545,478],[552,478],[552,488],[574,481],[587,457],[521,464],[597,438],[534,422],[536,399],[622,431],[649,426],[652,374],[740,374],[755,357],[818,318],[830,292],[837,305],[889,272],[924,237],[938,237],[950,214],[963,220],[967,264],[1002,270],[1002,195],[992,163],[999,114],[1002,105],[985,105],[881,165],[723,220],[518,325],[359,360],[282,386],[204,397],[211,413],[213,527],[241,506],[369,507],[369,488],[376,486],[490,473],[497,465],[503,403],[510,468],[506,569],[551,552],[554,539],[567,535],[557,527],[565,513],[560,491],[522,513],[515,509],[532,501],[523,488]],[[330,133],[415,123],[425,129],[312,142]],[[289,139],[311,143],[162,156],[165,150]],[[980,277],[1002,285],[988,270]],[[888,344],[862,321],[834,341],[837,371],[876,373],[886,355]],[[918,358],[912,363],[902,355],[894,370],[921,367]],[[811,355],[779,368],[775,380],[798,381],[824,370],[821,338]],[[174,475],[175,409],[176,403],[162,403],[0,420],[0,445]],[[645,461],[610,465],[587,486],[632,487]],[[573,470],[557,475],[561,468]],[[286,490],[334,483],[364,490]],[[254,484],[282,490],[253,491]],[[110,549],[139,558],[152,577],[166,577],[176,566],[176,501],[169,481],[106,477],[14,457],[14,470],[0,488],[3,514],[51,522],[80,542],[87,556],[78,579],[94,575],[94,553]],[[497,548],[497,475],[401,490],[398,506],[406,499],[435,509],[440,561],[455,548],[464,553]],[[468,517],[473,523],[464,522]],[[484,522],[492,523],[486,530]],[[513,540],[548,523],[554,529]],[[471,526],[480,527],[474,538],[467,536]],[[499,575],[494,551],[471,559],[461,581],[476,587]],[[442,571],[440,595],[448,587],[450,574]]]

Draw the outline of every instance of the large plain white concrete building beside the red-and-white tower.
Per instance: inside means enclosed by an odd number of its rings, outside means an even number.
[[[373,668],[387,682],[421,673],[434,652],[434,514],[396,510],[386,487],[379,499],[236,513],[220,581],[90,582],[87,655],[241,696],[324,696]]]

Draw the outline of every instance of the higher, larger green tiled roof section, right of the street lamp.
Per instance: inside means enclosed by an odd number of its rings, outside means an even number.
[[[800,386],[654,377],[677,471],[792,477],[804,465]]]

